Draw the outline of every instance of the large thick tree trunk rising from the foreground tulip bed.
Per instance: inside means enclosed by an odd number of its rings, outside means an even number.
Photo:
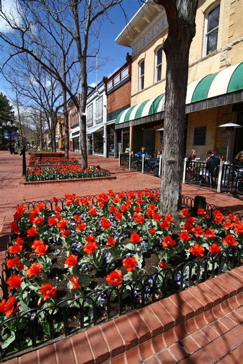
[[[168,19],[166,98],[162,151],[161,211],[175,214],[181,207],[183,143],[189,50],[195,35],[197,0],[156,0]]]

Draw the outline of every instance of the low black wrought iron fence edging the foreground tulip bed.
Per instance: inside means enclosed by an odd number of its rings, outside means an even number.
[[[159,192],[159,189],[149,191]],[[127,195],[129,192],[131,193],[131,191],[124,193]],[[138,191],[133,192],[137,195]],[[97,201],[97,196],[92,197],[92,203]],[[88,196],[83,198],[88,199]],[[195,199],[188,196],[183,196],[181,199],[184,207],[197,208]],[[56,204],[65,209],[66,201],[66,199],[57,199],[55,203],[51,200],[33,201],[25,202],[24,205],[30,210],[38,203],[43,202],[49,209],[53,209]],[[206,210],[211,217],[213,217],[215,209],[220,210],[223,215],[228,215],[231,212],[228,209],[221,209],[206,203]],[[243,215],[240,213],[235,213],[235,215],[240,221],[243,220]],[[10,235],[10,242],[11,238]],[[20,350],[35,348],[50,340],[74,334],[77,331],[105,322],[111,317],[125,314],[173,293],[183,291],[241,265],[241,256],[242,246],[238,245],[229,247],[220,253],[209,254],[194,260],[187,260],[185,257],[183,263],[161,269],[156,273],[143,275],[137,280],[123,283],[120,287],[93,290],[84,296],[73,299],[66,298],[55,305],[41,309],[30,309],[22,315],[11,317],[5,320],[0,327],[2,330],[4,327],[15,328],[16,346],[14,352],[8,353],[7,356],[3,351],[2,357],[7,360]],[[6,252],[5,261],[8,257],[9,254]],[[1,272],[1,285],[5,299],[8,298],[6,280],[11,274],[11,269],[7,268],[6,263],[4,263]],[[47,323],[46,326],[43,326],[44,321]]]

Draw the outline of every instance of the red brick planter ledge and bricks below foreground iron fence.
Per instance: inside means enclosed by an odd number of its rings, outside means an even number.
[[[215,362],[227,354],[234,355],[228,362],[237,362],[242,318],[235,310],[242,305],[242,283],[243,267],[235,268],[7,363],[149,364],[186,358],[186,364]]]

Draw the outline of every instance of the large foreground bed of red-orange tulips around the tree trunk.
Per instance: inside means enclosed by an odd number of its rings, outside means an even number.
[[[213,208],[211,220],[204,209],[184,208],[173,218],[158,203],[156,190],[110,190],[17,206],[2,275],[5,352],[96,325],[239,264],[239,216]]]

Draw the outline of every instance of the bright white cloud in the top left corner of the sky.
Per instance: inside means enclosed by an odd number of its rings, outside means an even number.
[[[19,17],[16,9],[15,0],[2,0],[2,13],[3,15],[0,13],[0,32],[7,33],[12,30],[4,19],[5,17],[8,18],[9,22],[13,21],[15,24],[19,24],[21,22],[21,18]]]

